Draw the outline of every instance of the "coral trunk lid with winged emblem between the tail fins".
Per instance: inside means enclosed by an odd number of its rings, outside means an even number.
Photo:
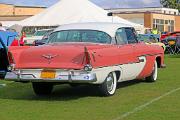
[[[92,43],[54,43],[23,51],[16,63],[18,69],[83,69],[85,47],[88,52],[111,45]]]

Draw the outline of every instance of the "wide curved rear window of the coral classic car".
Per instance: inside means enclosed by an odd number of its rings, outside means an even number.
[[[96,30],[65,30],[57,31],[49,36],[48,43],[54,42],[92,42],[111,43],[111,37]]]

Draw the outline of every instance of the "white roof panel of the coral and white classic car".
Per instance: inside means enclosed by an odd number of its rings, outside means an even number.
[[[54,31],[61,30],[98,30],[108,33],[111,37],[115,36],[115,32],[118,28],[121,27],[132,27],[123,23],[102,23],[102,22],[91,22],[91,23],[73,23],[66,24],[56,28]]]

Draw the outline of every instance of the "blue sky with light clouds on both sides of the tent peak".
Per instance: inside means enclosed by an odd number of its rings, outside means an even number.
[[[0,0],[0,3],[27,6],[51,6],[59,0]],[[159,7],[160,0],[91,0],[103,8]]]

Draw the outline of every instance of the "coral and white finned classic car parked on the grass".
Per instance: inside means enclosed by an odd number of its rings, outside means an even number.
[[[18,58],[18,59],[17,59]],[[7,80],[32,82],[37,95],[47,95],[56,84],[93,84],[104,96],[117,82],[157,80],[164,51],[137,40],[133,27],[116,23],[74,23],[58,27],[48,44],[24,49]]]

